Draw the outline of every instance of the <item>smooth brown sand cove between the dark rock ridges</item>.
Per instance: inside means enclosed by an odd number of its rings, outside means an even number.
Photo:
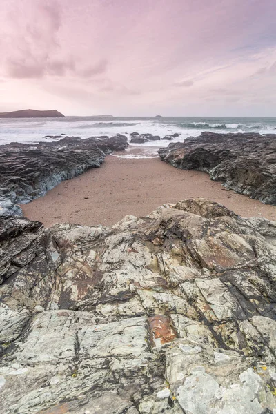
[[[46,227],[56,223],[110,226],[125,215],[148,215],[157,206],[190,197],[206,197],[242,217],[276,219],[276,207],[223,190],[204,172],[178,170],[153,159],[124,159],[109,155],[100,168],[63,181],[22,207],[28,219]]]

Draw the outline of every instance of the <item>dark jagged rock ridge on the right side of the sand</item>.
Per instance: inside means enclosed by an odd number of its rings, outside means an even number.
[[[265,204],[276,204],[276,135],[203,132],[161,148],[162,161],[184,170],[208,172],[226,188]]]

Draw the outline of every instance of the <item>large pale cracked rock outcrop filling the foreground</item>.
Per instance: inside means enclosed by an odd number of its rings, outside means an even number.
[[[275,222],[0,220],[1,413],[276,412]]]

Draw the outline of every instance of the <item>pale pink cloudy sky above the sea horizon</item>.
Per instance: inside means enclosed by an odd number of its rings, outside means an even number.
[[[276,0],[1,0],[0,111],[276,116]]]

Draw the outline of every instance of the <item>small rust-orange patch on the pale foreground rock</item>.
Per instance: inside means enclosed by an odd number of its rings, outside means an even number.
[[[170,316],[154,315],[148,318],[148,322],[150,324],[150,341],[152,346],[172,342],[177,337]]]

